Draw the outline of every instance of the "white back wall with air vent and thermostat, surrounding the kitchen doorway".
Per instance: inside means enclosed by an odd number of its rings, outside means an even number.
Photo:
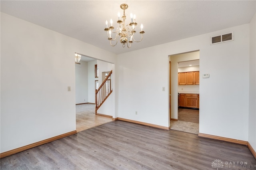
[[[210,36],[230,31],[234,41],[210,45]],[[247,141],[249,24],[118,55],[118,116],[168,127],[168,55],[196,50],[200,74],[210,74],[200,76],[199,132]]]

